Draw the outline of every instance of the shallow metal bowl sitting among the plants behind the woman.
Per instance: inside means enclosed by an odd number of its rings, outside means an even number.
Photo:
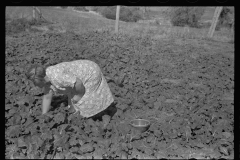
[[[150,127],[150,121],[146,119],[133,119],[130,121],[130,124],[141,133],[147,131]]]

